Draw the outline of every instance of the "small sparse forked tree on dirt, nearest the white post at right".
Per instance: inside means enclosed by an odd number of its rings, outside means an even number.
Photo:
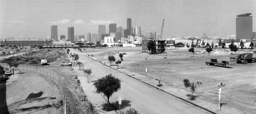
[[[195,82],[189,82],[189,80],[187,78],[183,79],[183,83],[184,83],[184,87],[185,88],[190,88],[191,91],[191,100],[194,100],[195,97],[193,96],[193,93],[196,91],[196,89],[200,86],[202,86],[202,82],[197,81],[197,83]]]

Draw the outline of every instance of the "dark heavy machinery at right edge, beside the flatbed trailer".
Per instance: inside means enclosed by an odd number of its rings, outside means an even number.
[[[256,63],[256,58],[252,58],[253,53],[239,54],[233,58],[230,58],[230,62],[237,62],[241,64]]]

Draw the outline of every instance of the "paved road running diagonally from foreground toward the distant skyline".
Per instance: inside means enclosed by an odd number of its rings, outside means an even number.
[[[118,97],[122,97],[122,100],[131,101],[131,108],[135,108],[140,113],[208,113],[201,108],[188,104],[132,77],[106,67],[98,61],[84,56],[82,53],[76,52],[73,49],[71,49],[71,52],[79,55],[79,61],[86,64],[87,69],[92,69],[92,76],[101,78],[112,73],[113,76],[122,80],[121,90],[110,98],[110,102],[116,102],[118,101]]]

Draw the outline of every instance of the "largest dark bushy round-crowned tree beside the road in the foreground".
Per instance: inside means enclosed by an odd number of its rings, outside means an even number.
[[[95,86],[97,93],[103,93],[108,98],[110,104],[109,98],[121,89],[121,80],[108,74],[95,81],[93,86]]]

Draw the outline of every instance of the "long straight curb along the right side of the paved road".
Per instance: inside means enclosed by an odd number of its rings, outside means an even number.
[[[90,58],[90,56],[87,56],[87,58]],[[93,58],[90,58],[90,59],[95,60],[95,59],[93,59]],[[101,63],[100,61],[98,61],[98,62]],[[101,64],[104,65],[104,66],[107,66],[107,67],[109,67],[109,68],[112,68],[112,67],[110,67],[110,66],[108,66],[108,65],[105,65],[105,64],[103,64],[103,63],[101,63]],[[117,70],[117,69],[115,69],[115,68],[112,68],[112,69],[114,69],[114,70],[116,70],[116,71],[118,71],[118,72],[121,72],[121,71],[119,71],[119,70]],[[131,75],[126,74],[126,73],[124,73],[124,72],[121,72],[121,73],[123,73],[123,74],[125,74],[125,75],[127,75],[127,76],[129,76],[129,77],[132,77],[132,78],[134,78],[134,79],[136,79],[136,80],[139,80],[139,81],[141,81],[141,82],[147,84],[148,86],[151,86],[151,87],[153,87],[153,88],[155,88],[155,89],[157,89],[157,90],[159,90],[159,91],[162,91],[162,92],[164,92],[164,93],[166,93],[166,94],[172,95],[173,97],[176,97],[176,98],[178,98],[178,99],[180,99],[180,100],[182,100],[182,101],[185,101],[185,102],[187,102],[187,103],[189,103],[189,104],[192,104],[192,105],[194,105],[194,106],[196,106],[196,107],[199,107],[199,108],[201,108],[201,109],[204,109],[204,110],[206,110],[206,111],[208,111],[208,112],[210,112],[210,113],[217,114],[217,113],[214,112],[214,111],[211,111],[211,110],[209,110],[209,109],[207,109],[207,108],[204,108],[204,107],[202,107],[202,106],[199,106],[199,105],[197,105],[197,104],[195,104],[195,103],[193,103],[193,102],[190,102],[190,101],[188,101],[188,100],[186,100],[186,99],[183,99],[183,98],[181,98],[181,97],[178,97],[178,96],[176,96],[176,95],[174,95],[174,94],[168,93],[168,92],[166,92],[166,91],[164,91],[164,90],[162,90],[162,89],[160,89],[160,88],[158,88],[158,87],[156,87],[156,86],[154,86],[154,85],[152,85],[152,84],[150,84],[150,83],[147,83],[147,82],[145,82],[145,81],[142,81],[142,80],[140,80],[140,79],[138,79],[138,78],[136,78],[136,77],[134,77],[134,76],[131,76]]]

